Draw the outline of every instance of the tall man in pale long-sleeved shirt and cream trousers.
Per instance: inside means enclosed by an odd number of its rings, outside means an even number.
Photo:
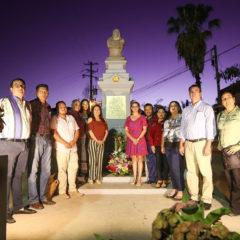
[[[179,152],[185,155],[187,165],[187,186],[194,201],[199,201],[199,172],[203,178],[201,200],[205,210],[212,203],[212,167],[211,144],[216,135],[216,123],[213,109],[204,103],[202,91],[198,85],[189,87],[192,105],[182,113],[181,139]]]

